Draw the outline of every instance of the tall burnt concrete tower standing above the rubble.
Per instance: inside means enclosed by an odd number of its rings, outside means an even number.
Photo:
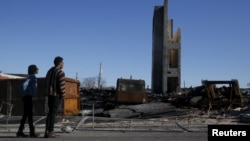
[[[173,20],[168,19],[168,0],[164,6],[155,6],[152,44],[152,93],[170,93],[180,90],[181,30],[173,35]]]

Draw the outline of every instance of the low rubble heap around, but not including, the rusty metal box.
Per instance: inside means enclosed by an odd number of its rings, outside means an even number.
[[[224,87],[224,90],[226,87]],[[116,91],[89,89],[81,91],[82,113],[85,116],[109,118],[153,118],[153,117],[199,117],[199,118],[236,118],[239,122],[249,123],[249,95],[242,94],[241,103],[230,103],[229,95],[213,93],[210,98],[206,87],[188,88],[182,93],[151,94],[148,103],[116,102]],[[237,98],[237,97],[236,97]],[[236,99],[235,98],[235,99]],[[195,110],[194,110],[195,109]],[[86,112],[86,111],[89,112]],[[190,112],[191,110],[195,112]],[[85,112],[83,112],[85,111]]]

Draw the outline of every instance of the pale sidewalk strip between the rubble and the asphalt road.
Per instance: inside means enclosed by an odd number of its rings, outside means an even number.
[[[0,133],[16,133],[21,117],[12,117],[9,124],[0,123]],[[44,133],[45,117],[34,117],[36,131]],[[151,132],[207,132],[209,124],[239,124],[235,118],[164,117],[149,119],[120,119],[109,117],[68,116],[57,117],[55,132],[65,133],[68,126],[76,131],[151,131]],[[24,132],[29,132],[26,123]]]

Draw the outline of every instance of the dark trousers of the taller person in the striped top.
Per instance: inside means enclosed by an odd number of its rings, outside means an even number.
[[[46,119],[46,131],[54,131],[55,119],[60,104],[61,99],[59,98],[59,96],[48,96],[49,112]]]

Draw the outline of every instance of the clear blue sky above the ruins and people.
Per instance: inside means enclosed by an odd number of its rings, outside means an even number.
[[[67,77],[117,78],[151,86],[152,19],[163,0],[0,0],[0,70],[44,77],[55,56]],[[181,29],[181,86],[202,79],[250,82],[250,1],[169,0],[174,32]]]

